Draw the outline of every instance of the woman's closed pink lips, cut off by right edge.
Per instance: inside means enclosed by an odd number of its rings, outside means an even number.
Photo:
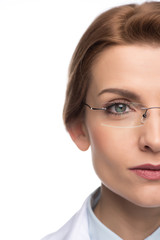
[[[129,168],[139,177],[148,179],[148,180],[160,180],[160,165],[144,164]]]

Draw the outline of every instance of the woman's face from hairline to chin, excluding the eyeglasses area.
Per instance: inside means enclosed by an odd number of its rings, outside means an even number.
[[[120,91],[103,91],[110,88]],[[124,90],[133,94],[124,95]],[[160,47],[114,46],[99,55],[86,102],[103,107],[115,100],[160,107]],[[137,128],[108,127],[103,124],[103,114],[86,107],[85,126],[98,177],[136,205],[160,206],[160,109],[148,110],[145,124]],[[144,164],[159,165],[159,171],[141,169],[137,175],[131,170]]]

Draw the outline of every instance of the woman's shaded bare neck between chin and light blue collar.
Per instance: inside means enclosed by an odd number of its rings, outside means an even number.
[[[160,226],[160,208],[137,206],[104,185],[94,212],[105,226],[125,240],[145,239]]]

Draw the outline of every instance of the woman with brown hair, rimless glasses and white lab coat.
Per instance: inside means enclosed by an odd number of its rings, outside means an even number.
[[[64,122],[102,184],[45,240],[160,239],[160,3],[101,14],[73,55]]]

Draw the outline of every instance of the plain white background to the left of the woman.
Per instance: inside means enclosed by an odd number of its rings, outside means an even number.
[[[0,239],[57,230],[100,185],[63,126],[67,69],[93,19],[125,3],[0,0]]]

